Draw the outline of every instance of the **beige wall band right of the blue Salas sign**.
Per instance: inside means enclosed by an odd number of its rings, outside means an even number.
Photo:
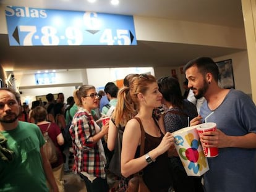
[[[139,41],[160,41],[246,49],[243,28],[139,17],[136,15],[134,16],[134,25],[136,38]]]

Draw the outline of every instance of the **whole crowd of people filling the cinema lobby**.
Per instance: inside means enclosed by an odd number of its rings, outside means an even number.
[[[184,72],[184,94],[175,77],[129,74],[121,88],[108,82],[97,93],[95,86],[82,85],[67,103],[63,93],[56,99],[49,93],[46,103],[34,101],[31,109],[20,104],[14,90],[1,88],[0,191],[65,191],[64,173],[72,171],[88,192],[107,192],[119,134],[115,191],[126,191],[137,172],[152,192],[256,191],[254,102],[242,91],[218,85],[218,66],[210,57],[189,61]],[[189,100],[191,93],[197,102]],[[219,154],[207,158],[210,169],[202,176],[188,176],[173,132],[204,123],[206,117],[217,131],[200,135],[200,143],[218,148]],[[58,151],[52,164],[43,150],[46,130]]]

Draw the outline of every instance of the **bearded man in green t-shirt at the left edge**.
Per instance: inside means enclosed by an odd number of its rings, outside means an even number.
[[[33,123],[20,122],[20,97],[9,88],[0,89],[0,191],[58,192],[46,159],[45,140]]]

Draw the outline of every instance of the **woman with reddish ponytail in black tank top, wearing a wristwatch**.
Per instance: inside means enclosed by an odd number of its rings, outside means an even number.
[[[144,153],[139,156],[142,135],[139,119],[126,123],[122,137],[122,175],[129,177],[143,170],[143,180],[151,192],[167,192],[171,186],[167,151],[174,148],[174,138],[169,132],[164,134],[163,127],[152,117],[153,109],[161,105],[162,99],[156,78],[152,75],[132,78],[129,87],[119,91],[117,99],[116,121],[136,111],[135,117],[139,117],[145,131]]]

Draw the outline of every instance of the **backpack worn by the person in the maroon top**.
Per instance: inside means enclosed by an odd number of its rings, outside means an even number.
[[[58,161],[58,153],[53,140],[51,140],[48,134],[50,125],[51,123],[49,123],[46,131],[43,132],[43,138],[45,138],[45,145],[43,146],[43,149],[45,151],[46,158],[49,160],[50,164],[53,164]]]

